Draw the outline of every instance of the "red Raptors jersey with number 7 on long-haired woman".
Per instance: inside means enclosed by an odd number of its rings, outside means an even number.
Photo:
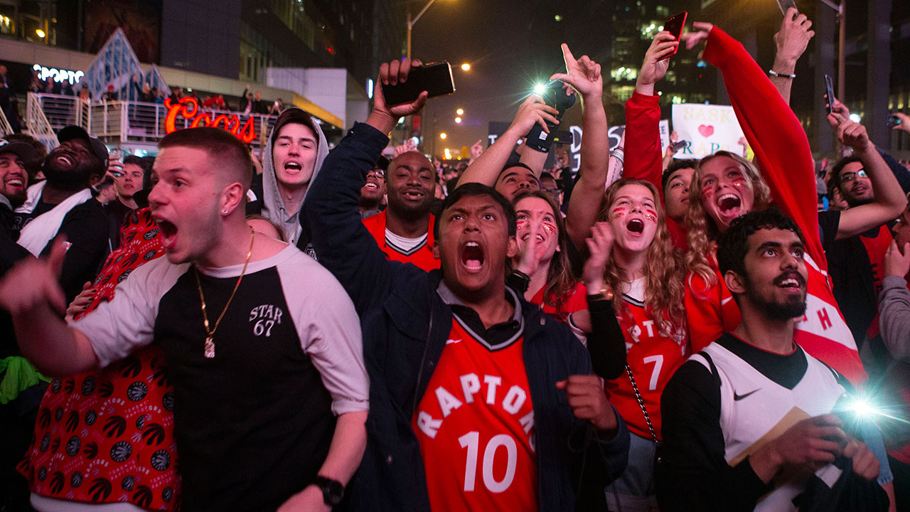
[[[643,296],[643,293],[636,295]],[[682,329],[675,329],[674,335],[660,333],[657,322],[641,302],[629,294],[622,296],[629,314],[619,316],[622,332],[625,333],[626,361],[635,377],[635,384],[642,394],[644,407],[648,410],[654,433],[661,437],[661,394],[676,368],[689,355],[689,343]],[[651,439],[651,431],[644,419],[642,407],[638,404],[632,381],[623,373],[616,379],[604,383],[604,391],[610,403],[622,415],[629,430],[636,435]]]

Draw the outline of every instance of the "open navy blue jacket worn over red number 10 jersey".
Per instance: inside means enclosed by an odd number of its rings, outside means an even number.
[[[440,359],[452,312],[436,292],[440,271],[388,261],[360,221],[360,188],[388,143],[385,134],[369,125],[351,129],[322,164],[301,221],[311,227],[319,262],[349,292],[363,328],[370,382],[368,442],[349,488],[351,507],[430,510],[411,418]],[[521,309],[540,508],[571,510],[602,503],[604,486],[626,466],[629,431],[617,414],[618,434],[601,441],[590,423],[572,415],[565,392],[555,383],[571,374],[591,374],[590,357],[566,326],[538,306],[521,300]]]

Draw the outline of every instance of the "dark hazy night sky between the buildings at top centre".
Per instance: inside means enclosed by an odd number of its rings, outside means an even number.
[[[438,153],[441,148],[470,147],[479,138],[486,146],[489,121],[511,121],[535,82],[564,71],[562,42],[576,57],[588,55],[602,64],[609,53],[604,20],[610,4],[602,0],[437,0],[414,26],[411,54],[424,62],[448,60],[456,92],[430,99],[425,108],[425,149],[432,148],[434,117]],[[416,14],[425,3],[418,0],[410,5]],[[561,21],[555,15],[561,15]],[[464,62],[470,63],[469,72],[461,71]],[[609,78],[609,71],[604,74]],[[460,125],[454,121],[457,108],[465,109]],[[449,138],[440,140],[440,131]]]

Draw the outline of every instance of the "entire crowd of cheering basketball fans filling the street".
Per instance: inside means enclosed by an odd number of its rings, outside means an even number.
[[[470,162],[389,148],[427,101],[385,103],[407,58],[331,150],[278,107],[261,172],[220,128],[155,159],[0,139],[3,507],[910,507],[910,169],[828,98],[849,155],[816,171],[788,106],[813,35],[788,12],[769,77],[718,27],[659,33],[614,151],[563,45],[577,174],[513,157],[559,124],[536,95]],[[677,49],[753,160],[662,151]]]

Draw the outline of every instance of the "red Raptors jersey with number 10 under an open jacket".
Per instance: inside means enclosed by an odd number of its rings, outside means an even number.
[[[411,422],[434,512],[537,510],[534,409],[522,342],[491,351],[452,320]]]

